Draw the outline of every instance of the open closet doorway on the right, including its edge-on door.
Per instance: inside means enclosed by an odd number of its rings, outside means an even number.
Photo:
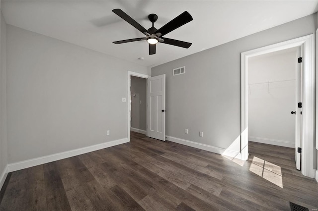
[[[296,160],[297,170],[301,154],[295,149],[302,138],[300,52],[294,47],[253,56],[247,73],[248,153],[264,160],[283,158],[290,164]]]

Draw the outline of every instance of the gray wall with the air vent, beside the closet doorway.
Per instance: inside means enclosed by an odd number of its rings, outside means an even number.
[[[240,53],[316,29],[317,13],[153,67],[152,76],[166,74],[166,134],[227,149],[240,136]],[[172,76],[181,66],[186,73]]]

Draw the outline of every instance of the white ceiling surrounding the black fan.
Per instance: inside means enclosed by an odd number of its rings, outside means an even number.
[[[318,0],[1,0],[7,24],[116,56],[144,66],[156,66],[238,38],[313,14]],[[146,29],[150,13],[155,27],[188,11],[193,21],[165,35],[192,43],[189,49],[158,44],[148,54],[146,41],[113,44],[143,37],[112,9],[120,8]],[[145,60],[138,60],[145,57]]]

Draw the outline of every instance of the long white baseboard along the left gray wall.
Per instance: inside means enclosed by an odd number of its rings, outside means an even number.
[[[129,142],[128,139],[124,138],[124,139],[119,139],[115,141],[105,142],[102,144],[92,145],[89,147],[83,147],[83,148],[79,148],[75,150],[70,150],[63,153],[57,153],[57,154],[53,154],[49,156],[43,156],[40,158],[33,158],[33,159],[23,160],[20,162],[10,163],[8,164],[7,172],[17,171],[23,168],[29,168],[32,166],[41,165],[41,164],[56,161],[59,159],[70,158],[73,156],[78,156],[78,155],[89,153],[92,151],[101,150],[108,147],[113,147],[113,146],[124,144],[127,142]]]

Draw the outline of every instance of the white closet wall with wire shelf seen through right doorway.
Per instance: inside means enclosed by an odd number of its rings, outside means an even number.
[[[295,147],[297,49],[248,60],[248,140]]]

